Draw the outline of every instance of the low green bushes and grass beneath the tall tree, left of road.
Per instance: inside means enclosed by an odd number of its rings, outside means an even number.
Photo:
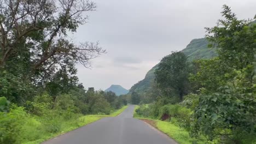
[[[98,119],[84,115],[110,115],[126,104],[113,92],[85,91],[82,85],[55,98],[44,91],[22,106],[0,97],[0,143],[39,143]]]

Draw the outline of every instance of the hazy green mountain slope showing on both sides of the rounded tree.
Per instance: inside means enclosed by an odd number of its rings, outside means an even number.
[[[188,56],[188,61],[195,59],[209,59],[217,56],[217,53],[213,49],[208,48],[208,41],[206,38],[193,39],[190,41],[188,46],[182,50],[185,55]],[[145,78],[135,85],[133,85],[129,93],[137,92],[138,94],[146,93],[151,87],[155,79],[155,69],[158,68],[159,64],[156,64],[152,69],[148,71]]]

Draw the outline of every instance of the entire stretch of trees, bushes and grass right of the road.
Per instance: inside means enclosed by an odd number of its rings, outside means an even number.
[[[164,57],[155,71],[154,88],[146,97],[140,96],[141,104],[152,103],[136,112],[176,123],[198,141],[253,143],[256,25],[238,20],[226,5],[222,15],[225,19],[217,26],[206,28],[209,47],[216,49],[218,56],[192,63],[182,52]]]

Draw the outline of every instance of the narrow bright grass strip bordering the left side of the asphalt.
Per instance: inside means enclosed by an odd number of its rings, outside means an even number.
[[[27,123],[27,125],[30,125],[27,129],[27,135],[34,135],[34,139],[37,139],[36,141],[29,141],[29,140],[25,140],[22,142],[22,144],[37,144],[37,143],[41,143],[44,142],[45,140],[49,140],[52,139],[53,137],[62,135],[67,133],[68,131],[72,131],[75,130],[79,127],[83,127],[84,125],[93,123],[95,121],[98,121],[101,118],[104,117],[115,117],[118,116],[121,112],[123,112],[125,109],[127,108],[126,106],[121,107],[121,109],[117,110],[117,111],[113,111],[112,113],[110,113],[110,115],[86,115],[86,116],[81,116],[77,119],[73,119],[71,121],[65,121],[65,122],[60,122],[61,123],[61,131],[57,132],[57,133],[42,133],[42,131],[40,131],[40,129],[33,129],[33,130],[29,130],[31,129],[31,127],[35,126],[35,127],[39,127],[40,126],[40,122],[38,122],[36,120],[36,118],[31,118],[32,122]],[[37,123],[35,125],[35,123]]]

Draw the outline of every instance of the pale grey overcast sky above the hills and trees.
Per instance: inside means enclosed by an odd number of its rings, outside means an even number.
[[[93,1],[93,0],[92,0]],[[253,18],[256,0],[95,0],[96,11],[72,35],[75,43],[100,42],[107,51],[92,59],[91,69],[77,64],[85,88],[130,89],[148,70],[192,39],[205,36],[204,27],[216,26],[223,4],[239,19]]]

